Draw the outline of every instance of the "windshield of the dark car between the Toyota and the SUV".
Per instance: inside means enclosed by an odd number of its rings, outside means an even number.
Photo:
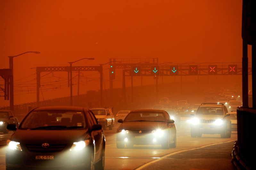
[[[165,122],[164,114],[161,112],[131,112],[124,121],[163,121]]]

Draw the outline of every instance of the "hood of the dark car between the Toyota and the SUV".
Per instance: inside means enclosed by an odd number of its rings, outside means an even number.
[[[166,128],[165,122],[123,122],[118,128],[125,130],[155,130],[159,128]]]

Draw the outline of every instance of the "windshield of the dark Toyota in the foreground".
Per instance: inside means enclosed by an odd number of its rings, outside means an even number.
[[[21,124],[22,129],[85,128],[83,112],[77,111],[34,111]]]

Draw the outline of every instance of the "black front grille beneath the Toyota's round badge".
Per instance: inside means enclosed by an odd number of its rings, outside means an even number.
[[[66,145],[50,144],[49,148],[43,148],[42,144],[27,144],[26,147],[30,152],[60,152],[66,147]]]

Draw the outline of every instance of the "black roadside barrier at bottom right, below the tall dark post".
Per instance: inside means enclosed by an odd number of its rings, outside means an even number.
[[[245,165],[242,169],[256,169],[256,109],[239,107],[237,109],[237,148],[232,151]],[[241,162],[240,161],[240,162]],[[236,161],[237,162],[237,161]]]

